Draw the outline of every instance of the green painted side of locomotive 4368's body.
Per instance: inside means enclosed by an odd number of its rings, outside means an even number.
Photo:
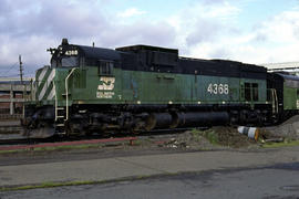
[[[54,77],[58,105],[65,105],[65,78],[70,67],[58,67]],[[247,102],[246,82],[258,84],[258,100]],[[69,78],[72,104],[265,104],[266,81],[223,76],[173,74],[113,69],[99,75],[95,66],[78,69]],[[39,95],[39,92],[37,95]],[[252,91],[251,91],[252,92]],[[40,105],[54,104],[42,101]]]

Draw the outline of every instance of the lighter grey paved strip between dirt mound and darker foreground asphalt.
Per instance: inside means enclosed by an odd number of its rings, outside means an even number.
[[[0,158],[0,187],[19,187],[44,182],[105,181],[118,178],[176,174],[182,171],[206,171],[224,168],[244,168],[299,161],[299,147],[280,150],[248,151],[193,151],[137,156],[96,157],[99,153],[78,156],[51,154],[34,155],[21,161]],[[99,155],[100,156],[100,155]],[[92,157],[92,158],[87,158]],[[33,160],[31,160],[33,158]],[[72,159],[75,158],[75,159]],[[82,159],[80,159],[82,158]],[[40,160],[41,159],[41,160]]]

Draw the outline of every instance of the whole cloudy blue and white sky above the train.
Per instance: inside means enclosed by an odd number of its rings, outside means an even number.
[[[49,48],[148,44],[181,56],[299,61],[299,0],[0,0],[0,77],[49,65]]]

